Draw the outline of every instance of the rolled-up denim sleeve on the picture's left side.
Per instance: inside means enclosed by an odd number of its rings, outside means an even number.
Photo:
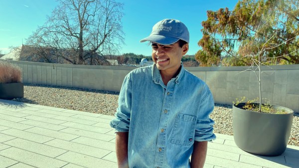
[[[131,107],[132,107],[132,80],[130,73],[125,77],[118,100],[118,108],[115,118],[110,122],[110,126],[116,132],[129,132]]]

